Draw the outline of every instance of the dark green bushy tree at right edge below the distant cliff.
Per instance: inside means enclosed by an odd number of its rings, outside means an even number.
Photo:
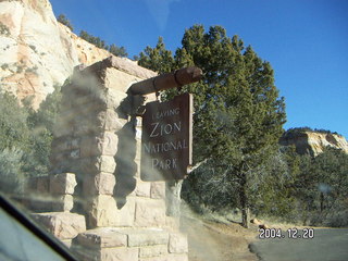
[[[302,156],[296,179],[301,220],[308,225],[348,225],[348,154],[327,147],[316,157]]]

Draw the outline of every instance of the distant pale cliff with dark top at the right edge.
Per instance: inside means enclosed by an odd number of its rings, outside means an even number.
[[[348,142],[346,138],[339,134],[330,132],[295,128],[285,132],[279,142],[283,146],[295,145],[296,151],[300,154],[309,153],[311,156],[318,156],[323,152],[327,146],[341,149],[348,153]]]

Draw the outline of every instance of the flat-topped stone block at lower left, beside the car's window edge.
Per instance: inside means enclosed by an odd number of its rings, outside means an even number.
[[[72,239],[86,231],[84,215],[70,212],[48,212],[32,214],[32,216],[59,239]]]

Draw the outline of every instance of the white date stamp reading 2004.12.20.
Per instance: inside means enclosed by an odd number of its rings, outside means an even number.
[[[281,228],[259,228],[260,239],[290,238],[290,239],[312,239],[314,238],[313,228],[288,228],[283,232]]]

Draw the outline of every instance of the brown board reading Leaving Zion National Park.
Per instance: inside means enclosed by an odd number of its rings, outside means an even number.
[[[192,95],[149,102],[142,115],[140,177],[177,181],[192,161]]]

